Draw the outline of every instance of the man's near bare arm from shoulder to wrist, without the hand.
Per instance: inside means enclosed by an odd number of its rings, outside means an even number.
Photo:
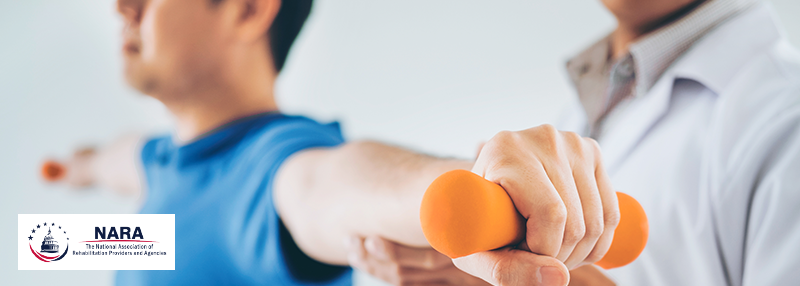
[[[352,235],[428,246],[419,222],[422,195],[437,176],[472,165],[369,141],[307,150],[281,166],[275,206],[306,254],[344,265]]]

